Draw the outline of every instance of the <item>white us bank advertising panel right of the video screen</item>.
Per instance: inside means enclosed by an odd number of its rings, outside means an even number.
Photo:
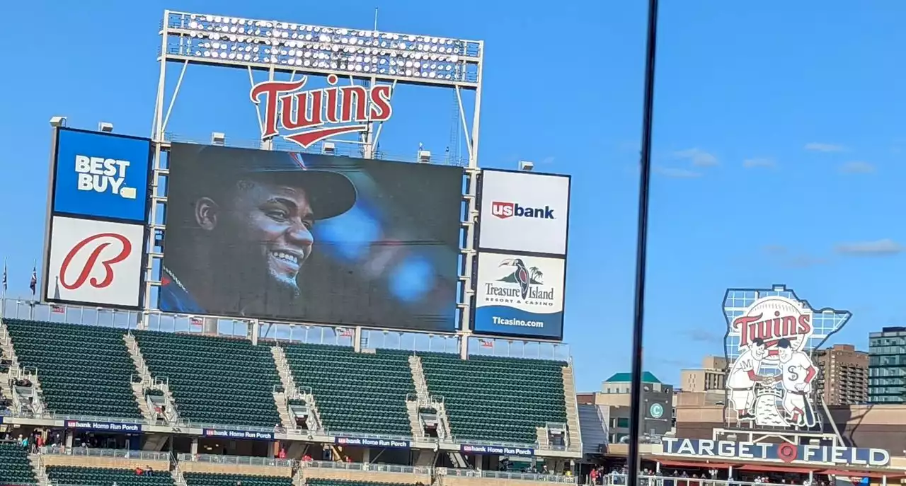
[[[481,171],[478,247],[566,254],[569,176]]]

